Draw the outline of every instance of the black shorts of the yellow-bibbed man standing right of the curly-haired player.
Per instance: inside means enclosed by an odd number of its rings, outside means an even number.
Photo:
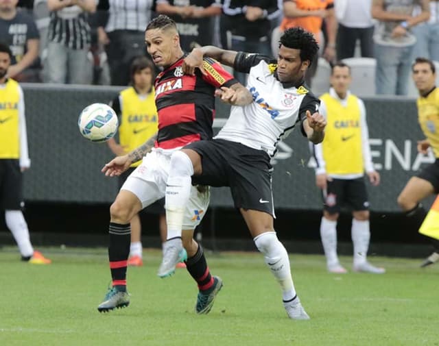
[[[324,210],[329,214],[340,212],[342,206],[353,211],[369,210],[368,192],[364,177],[358,179],[333,179],[322,192]]]

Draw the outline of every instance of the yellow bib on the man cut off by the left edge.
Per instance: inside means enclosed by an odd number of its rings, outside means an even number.
[[[13,79],[0,88],[0,158],[20,158],[19,90]]]

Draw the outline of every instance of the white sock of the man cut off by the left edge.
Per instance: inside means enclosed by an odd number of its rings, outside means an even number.
[[[27,230],[27,223],[23,217],[23,212],[21,210],[6,210],[5,221],[14,236],[16,245],[19,246],[21,256],[32,256],[34,248],[30,243],[29,230]]]

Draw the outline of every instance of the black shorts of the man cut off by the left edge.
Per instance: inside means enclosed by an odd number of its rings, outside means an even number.
[[[23,207],[23,174],[17,159],[0,159],[0,206],[19,210]]]

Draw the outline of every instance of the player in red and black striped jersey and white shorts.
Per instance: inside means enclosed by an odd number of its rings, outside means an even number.
[[[130,220],[140,210],[165,196],[171,154],[194,141],[212,138],[215,88],[223,88],[223,92],[219,94],[222,94],[222,99],[228,103],[239,105],[252,101],[250,92],[214,60],[204,60],[206,74],[183,73],[182,63],[185,54],[180,47],[176,23],[168,16],[158,16],[147,25],[145,42],[154,64],[163,67],[154,83],[158,133],[141,147],[108,162],[102,169],[106,175],[120,175],[132,162],[142,160],[147,154],[141,165],[123,184],[110,207],[108,257],[112,287],[106,293],[102,304],[99,304],[99,312],[130,304],[126,290]],[[152,149],[153,147],[155,148]],[[191,232],[201,222],[209,206],[209,189],[199,190],[194,186],[190,188],[191,196],[183,213],[183,227]],[[196,216],[195,210],[198,212]],[[180,251],[179,259],[183,260],[185,255],[185,251]],[[204,273],[200,274],[198,267],[190,264],[187,264],[187,270],[198,282],[201,291],[209,291],[212,286],[210,277],[204,277]]]

